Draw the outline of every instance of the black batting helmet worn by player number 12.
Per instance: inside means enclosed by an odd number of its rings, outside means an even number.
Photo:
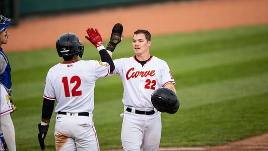
[[[73,33],[65,33],[61,35],[57,39],[56,48],[60,57],[70,56],[77,53],[81,58],[84,52],[82,41],[79,41],[78,37]]]

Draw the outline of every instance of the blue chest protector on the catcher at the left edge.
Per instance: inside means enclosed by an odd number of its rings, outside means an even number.
[[[0,52],[5,56],[7,59],[7,56],[4,54],[3,49],[0,47]],[[7,59],[8,61],[8,59]],[[1,74],[1,83],[8,89],[11,88],[11,67],[9,65],[9,61],[7,62],[7,66],[5,68],[5,71]]]

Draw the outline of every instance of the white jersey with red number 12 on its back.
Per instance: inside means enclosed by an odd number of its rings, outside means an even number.
[[[95,82],[109,73],[109,64],[96,60],[59,63],[47,73],[43,97],[57,100],[55,113],[92,113]]]

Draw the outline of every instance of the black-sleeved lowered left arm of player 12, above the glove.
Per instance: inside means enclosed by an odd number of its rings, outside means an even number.
[[[54,110],[54,100],[48,100],[44,98],[43,107],[42,107],[42,121],[45,123],[49,123],[49,120],[52,116]]]

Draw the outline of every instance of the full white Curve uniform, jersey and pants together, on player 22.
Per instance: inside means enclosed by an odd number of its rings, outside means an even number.
[[[143,66],[135,57],[116,59],[113,62],[114,73],[121,77],[124,86],[125,111],[121,131],[123,150],[140,151],[142,145],[143,151],[158,151],[162,129],[160,112],[145,115],[134,111],[155,110],[151,103],[153,91],[167,83],[175,84],[167,63],[154,56]],[[127,107],[132,112],[127,112]]]

